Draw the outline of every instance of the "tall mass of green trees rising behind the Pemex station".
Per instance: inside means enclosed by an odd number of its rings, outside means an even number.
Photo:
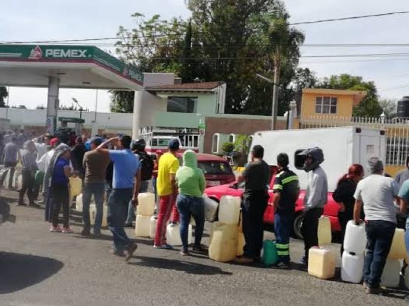
[[[232,114],[271,114],[272,86],[256,73],[273,78],[279,65],[279,115],[284,114],[294,95],[290,87],[304,35],[289,27],[283,3],[186,0],[186,4],[192,12],[188,21],[166,21],[158,15],[145,20],[134,14],[135,29],[119,30],[117,54],[142,71],[174,72],[183,82],[226,82],[225,112]],[[113,110],[132,110],[130,95],[112,92],[112,101]]]

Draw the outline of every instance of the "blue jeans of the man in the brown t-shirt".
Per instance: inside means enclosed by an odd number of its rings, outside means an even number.
[[[105,183],[85,183],[82,192],[82,220],[84,222],[84,230],[89,231],[91,228],[89,220],[89,203],[91,202],[91,197],[94,195],[95,206],[97,208],[97,214],[95,216],[94,224],[94,234],[99,234],[101,232],[102,224],[102,209],[104,205],[104,192]]]

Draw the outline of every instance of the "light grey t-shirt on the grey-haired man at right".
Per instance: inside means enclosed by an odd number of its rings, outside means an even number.
[[[394,197],[399,185],[391,178],[372,174],[356,186],[354,198],[363,202],[366,220],[384,220],[396,223]]]

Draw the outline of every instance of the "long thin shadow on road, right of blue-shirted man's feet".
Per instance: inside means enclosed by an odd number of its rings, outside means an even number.
[[[174,259],[164,259],[164,258],[152,258],[143,256],[134,256],[134,259],[139,259],[141,262],[130,263],[135,266],[142,267],[153,267],[176,271],[185,271],[188,274],[202,274],[202,275],[232,275],[231,272],[223,271],[218,267],[212,267],[208,265],[202,265],[191,262],[184,262]]]

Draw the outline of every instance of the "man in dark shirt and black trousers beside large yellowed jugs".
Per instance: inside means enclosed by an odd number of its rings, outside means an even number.
[[[251,151],[252,162],[237,178],[237,183],[245,181],[241,211],[243,216],[244,254],[236,258],[238,264],[251,264],[260,257],[263,247],[263,215],[268,201],[268,179],[270,167],[263,160],[264,148],[255,145]]]

